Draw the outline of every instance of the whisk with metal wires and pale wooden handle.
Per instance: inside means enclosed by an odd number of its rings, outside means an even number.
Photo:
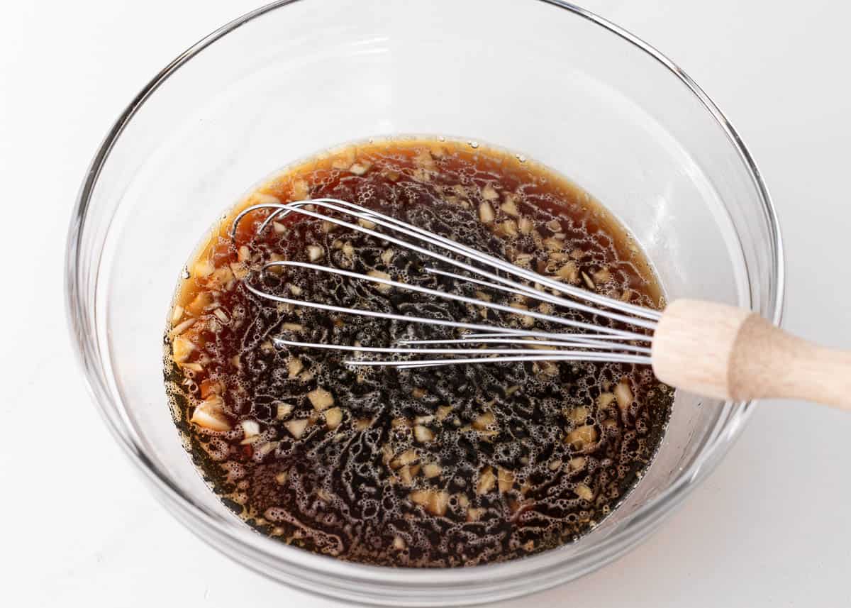
[[[239,221],[260,209],[271,209],[271,214],[260,223],[257,234],[264,232],[271,222],[283,219],[285,215],[306,215],[363,232],[459,271],[448,272],[437,267],[424,267],[423,272],[443,275],[445,278],[475,284],[488,290],[527,296],[548,302],[552,307],[590,313],[597,315],[595,318],[607,318],[611,322],[606,325],[593,324],[533,310],[519,311],[515,307],[479,297],[394,281],[389,277],[380,276],[380,273],[363,274],[303,261],[270,261],[260,269],[260,273],[273,267],[300,267],[389,288],[437,296],[445,300],[460,301],[502,313],[522,313],[549,322],[550,326],[556,324],[564,327],[563,332],[521,329],[386,313],[368,308],[339,307],[327,302],[271,294],[256,286],[249,276],[244,279],[246,288],[254,295],[272,301],[329,313],[346,313],[465,330],[465,333],[454,339],[404,340],[386,347],[326,344],[276,337],[273,341],[279,347],[323,348],[350,352],[354,357],[346,359],[346,364],[398,368],[525,361],[649,364],[661,381],[707,397],[736,401],[764,398],[810,399],[842,409],[851,409],[851,353],[819,347],[791,336],[757,313],[716,302],[688,299],[672,301],[660,312],[615,300],[518,267],[509,261],[500,260],[374,209],[336,198],[253,205],[234,218],[231,237],[235,238]],[[320,209],[325,213],[321,213]],[[351,221],[348,218],[351,218]],[[431,248],[426,245],[431,245]],[[380,357],[361,358],[362,353],[376,353]],[[423,355],[428,357],[422,358]]]

